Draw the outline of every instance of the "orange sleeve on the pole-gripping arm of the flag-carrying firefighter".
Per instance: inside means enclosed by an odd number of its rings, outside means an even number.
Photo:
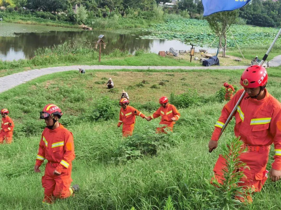
[[[239,90],[230,101],[225,104],[223,109],[221,110],[221,116],[219,117],[218,121],[215,124],[215,130],[212,134],[211,140],[218,141],[219,140],[219,134],[221,132],[222,127],[225,125],[225,122],[230,115],[231,111],[233,110],[234,106],[236,105],[238,99],[242,95],[243,90]],[[235,112],[234,112],[235,114]],[[233,116],[234,116],[233,114]]]

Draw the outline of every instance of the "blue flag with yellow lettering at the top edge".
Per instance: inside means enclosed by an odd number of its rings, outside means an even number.
[[[203,16],[216,12],[236,10],[248,4],[251,0],[202,0]]]

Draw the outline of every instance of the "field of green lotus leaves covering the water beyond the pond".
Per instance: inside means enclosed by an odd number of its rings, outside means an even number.
[[[173,18],[164,23],[153,24],[146,29],[151,31],[144,39],[178,39],[187,44],[209,46],[216,35],[211,31],[207,20]],[[278,28],[253,27],[250,25],[232,25],[230,28],[239,46],[269,45],[278,33]],[[234,39],[228,31],[228,47],[235,47]],[[281,45],[281,39],[276,45]]]

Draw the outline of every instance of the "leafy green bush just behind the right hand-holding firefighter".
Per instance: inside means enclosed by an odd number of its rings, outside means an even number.
[[[190,106],[201,105],[200,96],[198,95],[196,90],[192,90],[192,89],[189,89],[187,92],[180,95],[175,95],[172,93],[169,101],[177,108],[187,108]]]

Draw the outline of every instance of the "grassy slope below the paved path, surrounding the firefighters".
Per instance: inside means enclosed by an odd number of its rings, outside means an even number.
[[[281,100],[280,68],[269,71],[268,90]],[[166,75],[170,74],[170,75]],[[172,76],[174,74],[175,76]],[[94,99],[108,95],[118,100],[119,93],[111,93],[103,85],[102,77],[114,77],[116,88],[129,89],[134,104],[144,101],[157,102],[158,96],[180,93],[191,83],[190,88],[198,89],[200,94],[213,95],[229,80],[237,84],[241,71],[188,71],[172,73],[96,72],[87,71],[85,75],[77,72],[63,72],[43,76],[26,84],[0,94],[0,103],[10,109],[15,120],[15,138],[11,145],[1,145],[0,159],[0,208],[1,209],[40,209],[43,197],[41,175],[33,173],[34,160],[40,139],[40,127],[44,122],[38,120],[38,112],[47,102],[61,106],[63,118],[70,115],[83,115],[94,108]],[[128,83],[124,82],[128,79]],[[187,78],[187,80],[181,80]],[[63,79],[63,80],[62,80]],[[142,80],[150,84],[137,87]],[[166,87],[149,88],[160,80],[169,80]],[[209,81],[209,84],[208,84]],[[202,85],[204,84],[204,85]],[[132,85],[130,90],[129,85]],[[149,93],[149,94],[148,94]],[[116,103],[118,109],[118,105]],[[207,142],[212,134],[223,104],[210,102],[201,107],[180,109],[181,119],[177,122],[173,137],[176,142],[171,149],[159,149],[155,157],[145,157],[127,164],[108,163],[122,141],[121,129],[116,127],[117,117],[103,122],[69,123],[68,129],[74,134],[76,159],[73,162],[72,179],[80,184],[81,191],[74,198],[58,201],[52,209],[163,209],[168,195],[176,202],[176,209],[207,209],[212,207],[205,200],[212,175],[212,167],[221,151],[218,148],[208,153]],[[151,112],[141,110],[146,115]],[[63,120],[62,118],[62,120]],[[137,118],[135,134],[155,128],[159,119],[146,122]],[[19,135],[19,130],[27,125],[29,137]],[[233,124],[231,125],[233,127]],[[229,127],[220,144],[233,136]],[[32,133],[34,132],[34,133]],[[268,169],[273,160],[270,153]],[[42,166],[41,169],[44,169]],[[44,171],[44,170],[43,170]],[[185,185],[186,184],[186,185]],[[280,182],[267,181],[261,193],[254,195],[252,207],[237,206],[240,209],[271,209],[281,205]],[[201,189],[203,192],[197,192]]]

